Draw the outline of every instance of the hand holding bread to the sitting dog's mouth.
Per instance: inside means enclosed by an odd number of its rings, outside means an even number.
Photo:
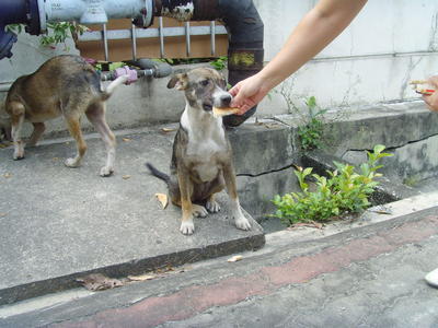
[[[264,85],[263,79],[258,74],[240,81],[230,90],[230,94],[233,96],[231,107],[239,107],[238,115],[242,115],[257,105],[269,90]]]

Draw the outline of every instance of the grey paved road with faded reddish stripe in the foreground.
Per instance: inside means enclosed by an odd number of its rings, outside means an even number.
[[[287,234],[287,233],[285,233]],[[438,327],[438,208],[32,306],[0,327]],[[0,312],[1,313],[1,312]]]

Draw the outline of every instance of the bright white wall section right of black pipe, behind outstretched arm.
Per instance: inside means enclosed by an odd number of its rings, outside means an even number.
[[[270,60],[318,1],[254,0],[265,23]],[[438,1],[369,0],[349,27],[285,83],[297,105],[314,95],[321,107],[417,97],[408,81],[438,72]],[[273,93],[260,114],[285,110]]]

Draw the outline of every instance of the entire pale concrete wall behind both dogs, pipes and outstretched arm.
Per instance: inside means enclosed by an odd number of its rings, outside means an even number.
[[[316,3],[314,0],[254,0],[265,22],[265,59],[270,60]],[[354,23],[283,84],[295,106],[316,97],[323,107],[358,107],[390,101],[418,98],[408,86],[438,71],[438,2],[436,0],[369,0]],[[67,52],[76,52],[69,45]],[[38,39],[21,35],[14,57],[0,61],[1,83],[34,71],[47,58],[66,52],[39,46]],[[120,87],[108,102],[107,119],[113,128],[176,121],[183,109],[182,95],[165,87],[168,79],[142,80]],[[4,85],[4,84],[3,84]],[[264,99],[257,116],[291,112],[277,92]],[[0,99],[4,93],[0,92]],[[85,121],[85,120],[84,120]],[[87,125],[87,122],[84,122]],[[48,132],[64,131],[64,122],[49,122]]]

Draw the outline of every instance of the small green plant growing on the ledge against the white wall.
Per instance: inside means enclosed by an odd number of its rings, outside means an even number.
[[[327,109],[320,109],[316,106],[316,98],[311,96],[306,102],[308,108],[307,121],[298,128],[301,148],[303,150],[313,150],[322,147],[323,121],[322,116]]]

